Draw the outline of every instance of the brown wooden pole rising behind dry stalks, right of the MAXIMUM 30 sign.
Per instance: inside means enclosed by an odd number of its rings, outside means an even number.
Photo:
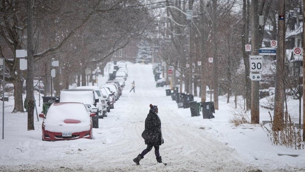
[[[278,52],[275,73],[274,126],[281,130],[284,110],[285,0],[278,2]]]

